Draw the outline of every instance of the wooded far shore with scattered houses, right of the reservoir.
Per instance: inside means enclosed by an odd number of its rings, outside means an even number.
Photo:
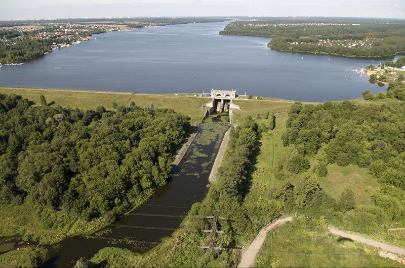
[[[220,34],[271,37],[271,49],[351,57],[386,57],[405,51],[405,23],[254,20],[228,24]]]

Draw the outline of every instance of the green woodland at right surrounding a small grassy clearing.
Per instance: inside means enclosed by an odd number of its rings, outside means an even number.
[[[405,226],[404,117],[402,101],[390,101],[389,105],[342,101],[316,106],[297,102],[289,111],[283,139],[286,146],[294,148],[287,170],[303,173],[303,180],[295,186],[286,182],[274,197],[286,196],[287,211],[299,209],[361,233]],[[312,171],[310,159],[315,161]],[[334,163],[342,167],[357,165],[373,174],[381,185],[372,196],[373,205],[357,206],[355,188],[346,189],[339,200],[325,194],[319,181],[327,175],[327,166]],[[285,172],[280,171],[276,177],[285,178]]]

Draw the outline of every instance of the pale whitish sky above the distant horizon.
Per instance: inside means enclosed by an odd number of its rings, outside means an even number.
[[[0,0],[0,20],[148,16],[331,16],[405,19],[405,0]]]

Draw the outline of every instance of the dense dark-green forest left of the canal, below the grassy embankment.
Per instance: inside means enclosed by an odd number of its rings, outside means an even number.
[[[188,117],[114,106],[82,111],[0,94],[0,203],[112,221],[166,184]]]

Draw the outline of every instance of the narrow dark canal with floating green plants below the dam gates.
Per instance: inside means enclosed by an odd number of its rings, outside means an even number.
[[[44,267],[72,267],[80,257],[91,258],[104,247],[144,253],[176,230],[193,203],[208,189],[208,177],[228,125],[203,123],[169,183],[129,215],[92,236],[73,236],[50,248]]]

